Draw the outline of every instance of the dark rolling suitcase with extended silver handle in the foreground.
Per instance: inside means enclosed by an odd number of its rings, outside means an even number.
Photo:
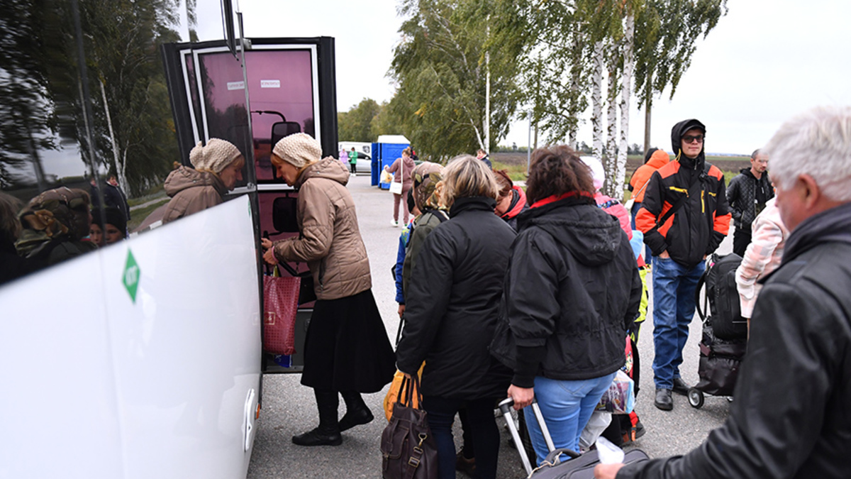
[[[520,460],[523,461],[523,468],[528,474],[528,479],[592,479],[594,477],[594,466],[600,463],[597,457],[597,451],[579,454],[570,449],[556,449],[553,445],[550,431],[546,429],[544,415],[540,413],[540,407],[538,407],[538,403],[535,401],[532,402],[532,410],[534,411],[535,419],[540,425],[540,430],[544,434],[544,440],[550,453],[546,455],[544,462],[540,466],[533,469],[532,463],[523,451],[523,443],[520,441],[520,433],[517,431],[517,425],[511,419],[511,407],[513,406],[514,401],[508,398],[500,402],[500,412],[505,416],[505,424],[508,425],[508,430],[511,432],[511,439],[520,453]],[[561,462],[558,458],[562,454],[568,455],[572,459]],[[647,454],[640,449],[633,449],[624,454],[625,464],[646,461],[648,459]]]

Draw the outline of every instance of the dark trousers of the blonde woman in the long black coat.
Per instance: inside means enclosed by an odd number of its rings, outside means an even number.
[[[494,419],[494,398],[473,401],[427,395],[423,409],[428,413],[428,425],[437,444],[437,469],[440,479],[455,479],[455,441],[452,421],[461,407],[467,410],[467,425],[476,450],[476,473],[481,479],[495,479],[496,462],[500,453],[500,430]]]

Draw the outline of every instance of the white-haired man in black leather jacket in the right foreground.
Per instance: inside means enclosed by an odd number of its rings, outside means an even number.
[[[729,418],[691,453],[597,465],[597,478],[851,477],[851,107],[791,119],[764,151],[791,235]]]

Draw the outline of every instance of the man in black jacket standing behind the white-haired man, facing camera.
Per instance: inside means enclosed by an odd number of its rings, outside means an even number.
[[[751,223],[766,202],[774,198],[774,189],[768,178],[768,155],[760,150],[751,153],[751,168],[743,168],[739,175],[730,180],[727,188],[727,201],[733,213],[733,252],[745,256],[747,245],[751,244]]]

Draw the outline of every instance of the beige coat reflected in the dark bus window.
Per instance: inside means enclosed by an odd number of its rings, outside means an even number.
[[[169,173],[164,188],[171,200],[163,212],[163,224],[220,205],[227,193],[225,183],[218,176],[188,166]]]

